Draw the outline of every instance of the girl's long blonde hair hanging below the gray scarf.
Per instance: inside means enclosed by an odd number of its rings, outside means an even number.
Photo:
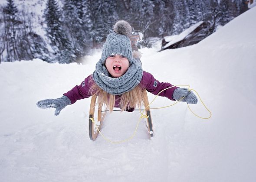
[[[113,111],[115,107],[115,95],[109,94],[108,92],[99,88],[99,86],[95,83],[92,77],[89,79],[92,86],[89,89],[89,93],[91,95],[98,96],[98,104],[103,105],[105,104],[108,107],[109,111]],[[117,101],[120,101],[119,107],[121,111],[125,109],[135,108],[136,106],[141,108],[141,104],[143,103],[144,92],[141,84],[138,84],[134,89],[131,91],[125,92],[121,94],[121,97],[118,98]]]

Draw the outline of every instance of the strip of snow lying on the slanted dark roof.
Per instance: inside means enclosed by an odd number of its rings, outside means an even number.
[[[182,33],[179,35],[174,35],[174,36],[167,36],[166,41],[168,42],[162,49],[167,48],[171,46],[172,44],[179,42],[183,40],[187,35],[189,35],[191,32],[194,31],[198,26],[200,26],[203,23],[203,21],[197,22],[193,26],[190,26],[188,29],[184,30]]]

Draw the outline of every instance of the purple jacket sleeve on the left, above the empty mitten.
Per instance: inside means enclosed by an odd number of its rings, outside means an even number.
[[[76,85],[74,88],[63,95],[69,97],[71,104],[74,104],[77,100],[90,97],[91,94],[89,93],[89,89],[91,86],[91,79],[92,75],[89,75],[87,78],[85,78],[84,81],[82,81],[80,85]]]

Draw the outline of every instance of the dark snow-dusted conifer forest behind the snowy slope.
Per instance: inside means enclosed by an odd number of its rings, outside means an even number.
[[[248,10],[245,1],[0,0],[0,63],[33,58],[79,62],[102,47],[117,20],[142,32],[139,46],[144,47],[199,21],[210,23],[213,33]]]

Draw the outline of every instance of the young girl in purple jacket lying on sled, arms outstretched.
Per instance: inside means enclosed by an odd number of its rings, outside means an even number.
[[[120,20],[113,28],[115,33],[108,34],[102,57],[96,63],[93,74],[62,97],[37,102],[38,107],[55,108],[55,115],[59,115],[67,105],[96,94],[98,102],[105,103],[110,111],[119,107],[132,112],[136,105],[141,106],[143,89],[157,95],[161,90],[173,86],[159,82],[150,73],[142,70],[140,54],[128,22]],[[187,88],[173,87],[163,91],[160,96],[173,101],[184,97],[181,101],[197,104],[196,95]]]

